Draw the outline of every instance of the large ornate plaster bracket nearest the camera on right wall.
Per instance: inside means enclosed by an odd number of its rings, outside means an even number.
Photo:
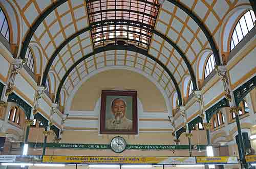
[[[215,69],[218,73],[218,76],[221,78],[221,81],[223,82],[224,85],[224,90],[225,90],[225,98],[231,102],[231,94],[230,94],[230,89],[229,89],[229,84],[228,84],[228,77],[227,77],[227,68],[223,65],[215,65]]]

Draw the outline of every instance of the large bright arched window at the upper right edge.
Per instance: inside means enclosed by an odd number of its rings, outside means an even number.
[[[252,10],[247,11],[237,22],[236,27],[233,30],[231,41],[230,41],[230,51],[236,47],[236,45],[245,37],[245,35],[250,32],[250,30],[255,26],[255,15]]]

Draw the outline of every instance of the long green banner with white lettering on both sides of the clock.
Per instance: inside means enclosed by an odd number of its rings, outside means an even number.
[[[29,142],[31,148],[42,148],[42,142]],[[57,149],[111,149],[110,144],[80,144],[80,143],[46,143],[47,148]],[[193,149],[195,146],[191,145]],[[206,145],[197,145],[197,149],[205,150]],[[127,150],[188,150],[189,145],[141,145],[127,144]]]

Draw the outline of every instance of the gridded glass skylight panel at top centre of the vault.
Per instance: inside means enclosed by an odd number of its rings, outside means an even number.
[[[158,0],[87,0],[94,47],[135,45],[148,50]]]

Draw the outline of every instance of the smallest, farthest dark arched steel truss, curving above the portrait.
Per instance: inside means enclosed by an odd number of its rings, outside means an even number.
[[[154,60],[155,62],[157,62],[165,71],[166,73],[169,75],[169,77],[172,79],[173,83],[174,83],[174,86],[177,90],[177,94],[178,94],[178,99],[179,99],[179,103],[180,103],[180,106],[182,106],[182,98],[181,98],[181,92],[180,92],[180,89],[179,89],[179,85],[178,83],[176,82],[174,76],[172,75],[172,73],[170,73],[170,70],[162,63],[160,62],[158,59],[156,59],[155,57],[153,56],[150,56],[148,55],[147,51],[146,50],[143,50],[143,49],[140,49],[136,46],[133,46],[133,45],[108,45],[108,46],[104,46],[104,47],[98,47],[97,49],[94,49],[94,51],[86,56],[83,56],[82,58],[80,58],[78,61],[76,61],[66,72],[66,74],[63,76],[63,78],[61,79],[60,83],[59,83],[59,86],[58,86],[58,89],[57,89],[57,93],[56,93],[56,98],[55,98],[55,103],[58,103],[59,101],[59,96],[60,96],[60,91],[61,91],[61,88],[65,82],[65,80],[67,79],[67,77],[69,76],[69,74],[71,73],[71,71],[79,64],[81,63],[83,60],[93,56],[93,55],[96,55],[98,53],[101,53],[101,52],[105,52],[105,51],[112,51],[112,50],[126,50],[126,51],[132,51],[132,52],[136,52],[136,53],[139,53],[139,54],[142,54],[142,55],[145,55],[146,57],[148,58],[151,58],[152,60]]]

